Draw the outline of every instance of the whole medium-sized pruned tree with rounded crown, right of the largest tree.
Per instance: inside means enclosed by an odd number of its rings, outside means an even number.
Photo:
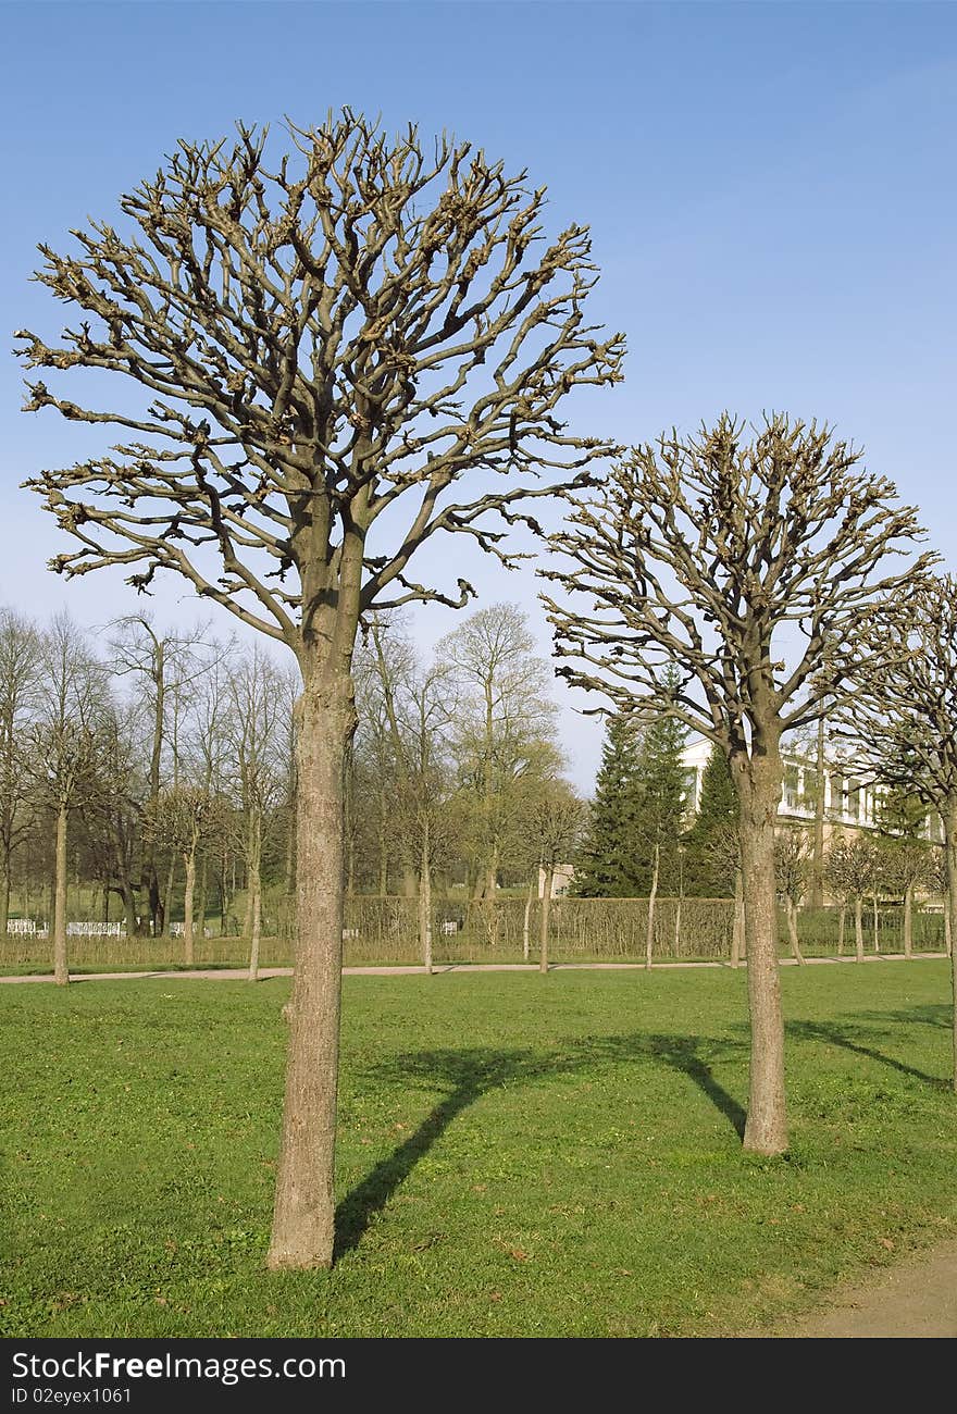
[[[744,440],[728,414],[697,437],[663,436],[571,493],[551,537],[568,568],[543,570],[557,669],[653,720],[671,715],[727,755],[738,793],[752,1028],[745,1147],[787,1148],[785,1028],[775,919],[780,741],[841,696],[845,650],[888,557],[919,534],[893,486],[816,423],[773,416]],[[913,573],[913,571],[910,571]],[[578,608],[575,595],[587,598]],[[838,652],[840,649],[840,652]],[[673,663],[676,686],[662,677]]]

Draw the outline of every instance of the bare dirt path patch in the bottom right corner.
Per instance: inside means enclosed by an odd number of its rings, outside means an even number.
[[[957,1338],[957,1241],[842,1287],[817,1311],[761,1335],[811,1340]]]

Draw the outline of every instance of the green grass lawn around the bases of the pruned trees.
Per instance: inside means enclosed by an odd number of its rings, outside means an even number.
[[[957,1230],[949,964],[782,983],[762,1161],[744,971],[346,978],[339,1260],[281,1275],[288,981],[3,987],[0,1332],[759,1329]]]

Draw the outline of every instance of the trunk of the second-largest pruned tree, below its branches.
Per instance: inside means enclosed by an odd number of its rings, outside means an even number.
[[[787,1150],[785,1018],[775,902],[775,820],[782,766],[776,742],[753,741],[751,759],[738,756],[732,761],[732,776],[741,802],[741,874],[751,1012],[751,1085],[744,1147],[756,1154],[783,1154]]]

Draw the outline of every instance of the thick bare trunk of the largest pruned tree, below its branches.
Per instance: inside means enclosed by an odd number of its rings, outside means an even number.
[[[329,1267],[344,915],[344,761],[355,730],[342,669],[297,703],[297,946],[283,1138],[267,1266]]]

